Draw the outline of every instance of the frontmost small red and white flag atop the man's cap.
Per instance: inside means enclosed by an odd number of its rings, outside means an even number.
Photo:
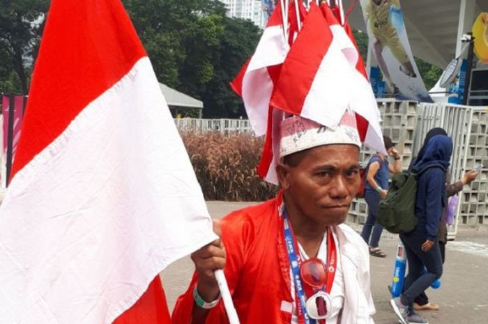
[[[331,28],[312,2],[282,65],[271,105],[330,128],[338,125],[346,109],[352,109],[360,115],[361,128],[371,126],[367,134],[363,132],[365,144],[383,152],[379,111],[367,79],[356,70],[358,57],[342,26]]]

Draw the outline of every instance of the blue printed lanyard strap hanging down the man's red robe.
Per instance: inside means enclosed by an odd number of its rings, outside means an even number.
[[[293,275],[293,281],[295,282],[296,295],[298,295],[298,300],[300,301],[300,309],[302,310],[305,324],[315,324],[315,320],[308,316],[307,309],[305,308],[307,300],[305,298],[305,291],[303,291],[302,280],[300,279],[300,265],[298,263],[298,257],[296,256],[297,254],[295,251],[295,243],[293,242],[293,235],[291,234],[291,226],[288,220],[288,214],[286,209],[283,210],[282,217],[284,224],[284,241],[287,245],[288,258],[291,265],[291,273]]]

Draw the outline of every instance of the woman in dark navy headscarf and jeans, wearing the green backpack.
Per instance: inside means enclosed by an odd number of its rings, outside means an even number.
[[[445,174],[450,165],[452,139],[436,135],[427,141],[413,171],[418,173],[415,215],[418,224],[409,233],[400,233],[409,263],[404,292],[390,301],[403,324],[428,323],[413,309],[415,298],[442,275],[442,257],[437,235],[443,208],[447,204]],[[424,272],[427,268],[427,272]]]

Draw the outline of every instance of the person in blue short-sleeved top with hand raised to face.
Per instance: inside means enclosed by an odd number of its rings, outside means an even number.
[[[379,248],[379,240],[383,226],[376,222],[378,208],[381,199],[386,197],[388,192],[388,178],[390,172],[396,173],[402,170],[402,162],[398,151],[393,146],[390,137],[383,136],[386,152],[395,159],[393,165],[388,163],[388,155],[376,153],[367,164],[367,178],[365,184],[365,201],[367,203],[367,218],[363,226],[361,236],[369,245],[369,254],[384,258],[385,253]]]

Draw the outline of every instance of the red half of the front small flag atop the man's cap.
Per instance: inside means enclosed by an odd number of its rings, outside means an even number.
[[[270,100],[273,107],[300,115],[332,39],[321,10],[312,2],[302,29],[283,63],[280,79]]]

